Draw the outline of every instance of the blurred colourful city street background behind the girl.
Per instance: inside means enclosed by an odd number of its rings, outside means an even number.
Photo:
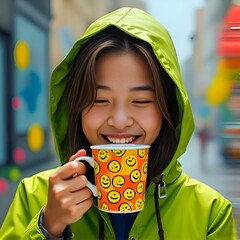
[[[240,0],[0,0],[0,227],[19,181],[59,165],[51,72],[91,22],[123,6],[169,30],[196,123],[183,171],[232,202],[240,233]]]

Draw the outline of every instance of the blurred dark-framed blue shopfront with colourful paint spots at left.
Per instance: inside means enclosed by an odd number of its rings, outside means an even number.
[[[0,193],[52,153],[48,121],[50,0],[1,1]]]

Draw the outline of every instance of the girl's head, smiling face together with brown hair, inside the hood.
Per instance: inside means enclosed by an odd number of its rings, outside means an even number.
[[[90,154],[93,144],[148,144],[156,163],[149,164],[148,179],[163,171],[178,146],[182,108],[150,44],[107,27],[81,46],[68,80],[66,101],[59,103],[68,109],[63,146],[69,158],[82,148]],[[164,151],[154,151],[159,147]]]

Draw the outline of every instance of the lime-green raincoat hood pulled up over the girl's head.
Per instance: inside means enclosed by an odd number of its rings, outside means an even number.
[[[115,26],[135,38],[148,42],[152,46],[159,63],[176,85],[180,113],[180,121],[175,129],[178,147],[171,163],[164,171],[165,178],[167,177],[168,181],[173,181],[181,172],[181,166],[177,159],[185,152],[194,129],[192,111],[186,90],[183,86],[176,51],[168,31],[152,16],[136,8],[125,7],[118,9],[92,23],[82,38],[74,44],[65,59],[53,71],[50,85],[49,109],[56,152],[62,164],[68,161],[66,159],[68,152],[68,116],[66,99],[64,99],[63,93],[67,85],[71,66],[82,45],[93,35],[109,26]]]

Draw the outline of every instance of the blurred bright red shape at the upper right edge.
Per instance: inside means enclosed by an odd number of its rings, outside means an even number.
[[[240,5],[231,5],[227,11],[217,42],[217,55],[240,57]]]

